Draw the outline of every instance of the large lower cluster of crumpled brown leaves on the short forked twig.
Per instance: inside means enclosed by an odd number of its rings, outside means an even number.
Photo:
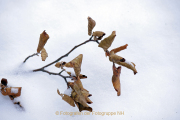
[[[86,90],[80,79],[87,78],[87,76],[80,74],[81,73],[81,64],[82,64],[83,55],[80,54],[70,62],[57,62],[55,64],[56,67],[64,69],[64,67],[73,68],[75,72],[75,76],[72,76],[71,72],[66,71],[74,82],[68,82],[68,86],[71,87],[72,92],[71,95],[68,96],[66,94],[62,94],[57,90],[58,94],[62,97],[64,101],[69,103],[71,106],[76,106],[79,108],[79,111],[87,110],[92,112],[92,108],[88,106],[92,101],[89,99],[92,96],[88,90]]]

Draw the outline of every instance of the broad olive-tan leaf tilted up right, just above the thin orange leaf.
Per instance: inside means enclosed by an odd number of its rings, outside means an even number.
[[[104,49],[104,51],[106,51],[111,46],[112,42],[114,41],[115,36],[116,36],[116,31],[113,31],[110,36],[108,36],[107,38],[105,38],[99,43],[98,47],[101,47]]]

